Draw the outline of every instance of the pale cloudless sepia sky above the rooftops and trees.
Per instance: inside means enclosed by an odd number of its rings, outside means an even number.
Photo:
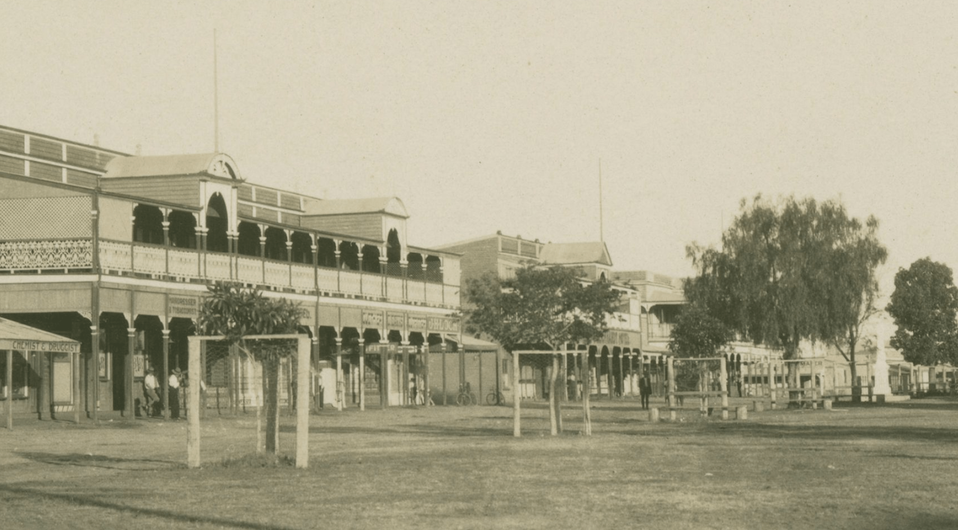
[[[417,246],[602,237],[618,270],[688,276],[743,198],[793,194],[878,217],[886,296],[916,259],[958,266],[958,2],[0,12],[0,123],[163,155],[212,152],[218,114],[243,178],[399,196]]]

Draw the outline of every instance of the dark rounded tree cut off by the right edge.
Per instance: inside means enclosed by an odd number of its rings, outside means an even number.
[[[958,288],[951,268],[923,257],[895,275],[886,308],[898,329],[892,347],[909,363],[958,363]]]

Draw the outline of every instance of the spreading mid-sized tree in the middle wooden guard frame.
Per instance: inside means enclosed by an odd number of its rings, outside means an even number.
[[[587,344],[604,335],[606,319],[615,311],[619,297],[607,282],[583,282],[575,269],[530,265],[518,269],[512,278],[500,280],[490,274],[467,281],[467,330],[489,335],[510,353],[520,347],[559,349],[566,343]],[[550,382],[554,433],[560,421],[554,411],[558,359],[553,358]],[[584,431],[588,433],[587,391],[582,403]],[[518,436],[518,399],[513,399],[513,410],[513,432]]]

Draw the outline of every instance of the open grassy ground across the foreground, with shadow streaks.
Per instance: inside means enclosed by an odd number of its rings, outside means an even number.
[[[958,528],[958,402],[658,424],[594,405],[590,437],[580,409],[551,437],[533,406],[519,439],[508,408],[326,410],[308,470],[220,465],[251,453],[250,417],[204,420],[201,470],[185,422],[21,421],[0,431],[0,527]]]

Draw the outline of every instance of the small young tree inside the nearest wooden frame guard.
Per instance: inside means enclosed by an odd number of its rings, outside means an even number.
[[[307,315],[305,309],[288,299],[266,298],[257,289],[244,289],[229,282],[211,285],[199,311],[197,328],[201,334],[221,335],[226,342],[236,344],[244,354],[262,363],[266,453],[275,454],[279,440],[280,363],[294,354],[296,346],[295,341],[285,339],[249,341],[247,338],[296,333],[300,319]]]

